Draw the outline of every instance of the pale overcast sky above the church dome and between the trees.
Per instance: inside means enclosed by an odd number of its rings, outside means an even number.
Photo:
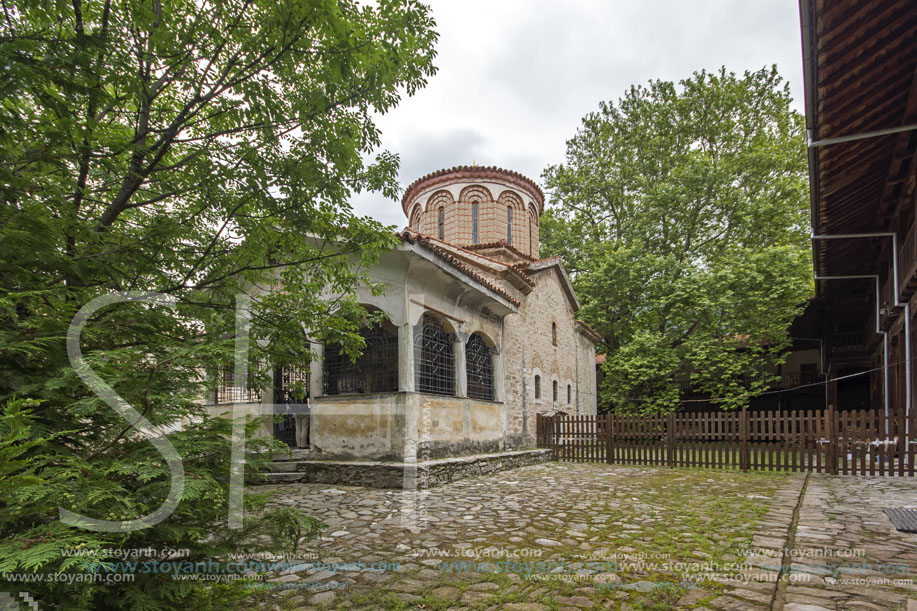
[[[802,112],[798,0],[428,0],[438,73],[378,120],[406,187],[434,170],[496,165],[539,184],[601,100],[695,70],[777,64]],[[399,228],[400,203],[354,206]]]

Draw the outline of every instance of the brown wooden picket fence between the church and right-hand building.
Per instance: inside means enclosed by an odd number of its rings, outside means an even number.
[[[876,410],[539,415],[536,436],[572,462],[913,476],[915,414],[909,425]]]

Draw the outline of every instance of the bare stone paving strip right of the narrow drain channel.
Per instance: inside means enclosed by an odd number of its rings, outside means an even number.
[[[917,509],[917,479],[813,474],[799,513],[786,611],[917,611],[917,534],[883,507]]]

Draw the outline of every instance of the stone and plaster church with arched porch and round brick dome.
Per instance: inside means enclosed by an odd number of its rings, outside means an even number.
[[[291,445],[321,459],[415,462],[535,447],[536,414],[596,413],[596,333],[559,258],[538,252],[544,194],[495,167],[428,174],[404,193],[399,244],[358,288],[387,322],[356,361],[336,345],[304,380]],[[273,397],[284,402],[283,372]],[[268,393],[266,393],[268,394]],[[276,434],[276,426],[275,426]]]

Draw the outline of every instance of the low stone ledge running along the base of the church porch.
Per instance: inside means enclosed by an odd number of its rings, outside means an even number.
[[[285,460],[274,463],[263,484],[291,482],[421,490],[465,477],[547,462],[551,450],[522,450],[440,458],[411,464],[356,460]]]

